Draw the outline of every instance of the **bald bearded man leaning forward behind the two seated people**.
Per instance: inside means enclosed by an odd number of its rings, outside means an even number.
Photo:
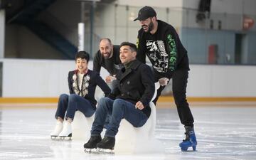
[[[93,59],[93,70],[100,73],[100,68],[105,68],[110,73],[105,78],[106,82],[109,83],[115,79],[119,64],[121,64],[119,46],[113,46],[109,38],[100,39],[99,50]]]

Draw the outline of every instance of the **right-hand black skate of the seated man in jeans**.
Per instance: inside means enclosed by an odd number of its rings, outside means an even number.
[[[114,154],[114,137],[105,136],[100,143],[97,144],[97,151],[104,154]]]

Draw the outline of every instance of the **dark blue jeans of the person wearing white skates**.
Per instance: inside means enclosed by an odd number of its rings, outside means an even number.
[[[55,114],[55,118],[61,117],[69,117],[71,119],[74,118],[75,111],[79,110],[85,117],[91,117],[95,112],[95,107],[93,107],[88,100],[79,95],[71,94],[62,94],[60,95],[58,101],[58,108]],[[65,116],[65,112],[67,112]]]

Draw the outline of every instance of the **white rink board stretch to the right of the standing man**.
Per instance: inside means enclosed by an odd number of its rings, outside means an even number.
[[[256,97],[256,66],[190,65],[188,97]]]

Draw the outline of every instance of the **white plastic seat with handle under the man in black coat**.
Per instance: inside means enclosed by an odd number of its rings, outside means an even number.
[[[159,82],[157,82],[152,100],[156,97],[159,86]],[[161,147],[161,142],[154,138],[156,106],[150,102],[149,107],[151,108],[150,117],[142,127],[134,127],[126,119],[122,119],[116,135],[115,152],[149,153],[154,151],[156,153],[164,150]]]

